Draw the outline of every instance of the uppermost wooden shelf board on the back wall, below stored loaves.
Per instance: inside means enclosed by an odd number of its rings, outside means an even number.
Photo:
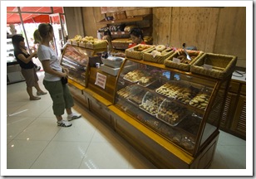
[[[138,22],[143,20],[151,20],[152,14],[147,14],[143,16],[135,16],[135,17],[127,17],[126,19],[121,20],[113,20],[113,21],[106,21],[105,19],[97,22],[97,24],[107,25],[107,24],[117,24],[117,23],[125,23],[125,22]]]

